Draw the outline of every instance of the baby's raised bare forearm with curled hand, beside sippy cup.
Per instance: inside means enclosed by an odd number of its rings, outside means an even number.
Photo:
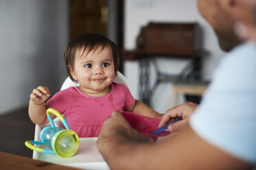
[[[47,123],[45,101],[50,97],[50,92],[47,87],[39,86],[34,88],[30,94],[30,104],[28,107],[28,114],[33,123],[43,125]]]

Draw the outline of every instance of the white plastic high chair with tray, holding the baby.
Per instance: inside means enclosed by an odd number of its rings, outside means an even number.
[[[119,71],[114,78],[114,82],[119,84],[125,84],[127,88],[129,88],[127,78]],[[70,86],[79,86],[79,84],[73,82],[70,77],[67,77],[61,86],[61,90],[69,88]],[[58,118],[54,119],[54,124],[56,125],[56,127],[63,127],[63,124]],[[43,128],[46,126],[50,126],[50,123],[46,123],[45,125],[36,125],[34,132],[34,141],[41,140],[41,130],[43,130]],[[53,154],[42,154],[41,152],[33,151],[33,159],[53,162],[56,164],[71,167],[77,167],[81,169],[109,169],[107,163],[98,152],[98,149],[96,147],[96,138],[80,138],[80,141],[81,144],[78,152],[71,158],[58,158],[58,156]]]

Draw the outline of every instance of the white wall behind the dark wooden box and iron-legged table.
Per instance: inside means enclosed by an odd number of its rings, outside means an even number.
[[[196,0],[126,0],[125,1],[125,49],[136,47],[136,37],[140,27],[153,22],[198,22],[203,29],[203,47],[210,55],[203,60],[203,78],[211,79],[213,69],[224,52],[217,44],[217,39],[211,27],[198,13]],[[159,60],[163,71],[177,72],[174,66],[180,60]],[[168,63],[168,64],[167,64]],[[163,64],[165,64],[163,66]],[[125,63],[125,75],[131,84],[131,91],[138,98],[138,62]],[[152,75],[153,76],[153,75]],[[170,84],[161,84],[153,96],[153,108],[165,112],[169,108]]]

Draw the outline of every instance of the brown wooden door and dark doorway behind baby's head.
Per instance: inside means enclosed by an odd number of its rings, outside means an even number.
[[[123,49],[125,0],[70,0],[70,38],[87,32],[107,36]],[[122,64],[120,64],[122,72]]]

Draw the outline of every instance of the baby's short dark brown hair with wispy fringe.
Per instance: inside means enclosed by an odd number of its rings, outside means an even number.
[[[75,81],[72,77],[72,74],[70,73],[69,66],[74,68],[74,59],[78,50],[83,51],[83,53],[87,50],[87,53],[89,53],[90,51],[96,50],[98,47],[101,47],[102,51],[107,45],[111,47],[115,73],[117,73],[120,66],[119,51],[115,43],[109,40],[109,38],[98,33],[87,33],[70,40],[65,48],[64,61],[67,73],[68,75],[70,75],[71,80]]]

